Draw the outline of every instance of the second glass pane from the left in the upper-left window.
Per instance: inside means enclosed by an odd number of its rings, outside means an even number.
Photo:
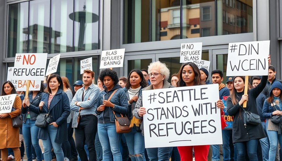
[[[29,53],[49,53],[50,0],[30,1]]]

